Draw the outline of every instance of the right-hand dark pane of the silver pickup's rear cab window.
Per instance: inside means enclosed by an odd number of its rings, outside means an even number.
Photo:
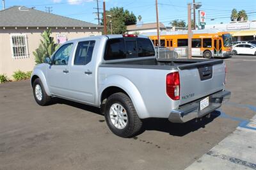
[[[147,38],[137,38],[138,56],[155,56],[155,49]]]

